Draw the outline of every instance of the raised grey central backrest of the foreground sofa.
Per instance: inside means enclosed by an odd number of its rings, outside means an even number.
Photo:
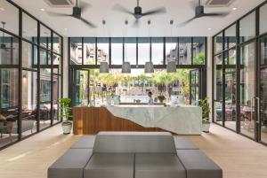
[[[176,153],[174,137],[167,132],[100,132],[93,152]]]

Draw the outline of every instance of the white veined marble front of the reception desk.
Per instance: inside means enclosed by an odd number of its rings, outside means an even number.
[[[107,108],[114,116],[145,128],[162,128],[179,135],[201,135],[202,110],[198,106],[116,105]]]

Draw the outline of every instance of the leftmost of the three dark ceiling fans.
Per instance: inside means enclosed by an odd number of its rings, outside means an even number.
[[[79,6],[78,6],[78,2],[76,0],[76,6],[73,7],[72,9],[72,14],[63,14],[63,13],[57,13],[57,12],[47,12],[49,15],[51,16],[56,16],[56,17],[72,17],[75,19],[80,19],[81,21],[83,21],[87,26],[89,27],[96,27],[92,22],[88,21],[87,19],[84,19],[82,17],[82,12],[84,12],[87,8],[89,8],[91,5],[87,4],[85,2],[79,2]]]

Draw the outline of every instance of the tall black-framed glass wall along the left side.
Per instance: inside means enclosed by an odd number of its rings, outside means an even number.
[[[9,1],[0,8],[1,149],[60,121],[62,37]]]

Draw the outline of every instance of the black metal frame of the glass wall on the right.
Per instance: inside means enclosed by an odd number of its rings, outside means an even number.
[[[215,63],[214,63],[214,60],[215,60],[215,57],[218,56],[218,55],[221,55],[223,54],[223,61],[224,61],[224,56],[225,56],[225,52],[228,52],[229,50],[236,50],[236,81],[237,81],[237,89],[236,89],[236,94],[237,94],[237,101],[236,101],[236,130],[232,130],[231,128],[228,128],[240,135],[244,135],[240,132],[240,108],[239,108],[239,105],[240,105],[240,74],[239,74],[239,71],[241,69],[241,65],[240,65],[240,48],[242,48],[242,46],[245,46],[249,43],[255,43],[255,97],[260,97],[260,39],[263,38],[264,36],[267,36],[267,32],[263,33],[263,34],[260,34],[259,32],[259,28],[260,28],[260,8],[267,4],[267,1],[264,1],[262,4],[259,4],[258,6],[256,6],[253,10],[251,10],[250,12],[247,12],[245,15],[243,15],[241,18],[239,18],[238,20],[236,20],[235,22],[231,23],[229,26],[223,28],[223,30],[221,30],[220,32],[218,32],[217,34],[215,34],[213,36],[213,61],[212,61],[212,69],[213,69],[213,76],[212,76],[212,93],[213,93],[213,96],[212,96],[212,115],[213,115],[213,122],[215,124],[218,124],[215,122],[214,120],[214,72],[215,72]],[[249,40],[247,40],[246,42],[241,42],[240,41],[240,36],[239,36],[239,23],[240,23],[240,20],[241,19],[244,19],[246,18],[248,15],[250,15],[251,13],[255,12],[255,36]],[[214,43],[214,39],[216,38],[217,35],[220,35],[221,33],[223,33],[223,41],[224,41],[224,32],[225,30],[227,30],[229,27],[233,26],[233,25],[236,25],[236,45],[231,47],[230,49],[226,48],[225,49],[225,45],[224,45],[224,42],[223,42],[223,50],[222,51],[219,51],[219,52],[215,52],[214,51],[214,46],[215,46],[215,43]],[[225,70],[225,64],[223,62],[223,69]],[[224,71],[225,72],[225,71]],[[224,77],[223,77],[223,81],[224,81],[224,84],[225,84],[225,73],[223,72],[224,74]],[[223,89],[225,89],[224,87],[224,84],[223,84]],[[225,103],[225,92],[223,92],[223,101]],[[225,104],[223,104],[223,106],[225,106]],[[257,110],[259,106],[257,104],[255,104],[255,111]],[[223,108],[223,114],[225,114],[225,107]],[[256,142],[259,142],[259,143],[263,143],[261,142],[261,124],[257,122],[258,120],[258,117],[257,116],[257,113],[255,112],[255,137],[254,138],[251,138],[247,135],[244,135],[246,136],[247,138],[249,139],[252,139],[252,140],[255,140]],[[225,127],[225,115],[223,115],[223,128],[227,128]],[[218,124],[220,125],[220,124]],[[221,126],[221,125],[220,125]],[[265,145],[267,145],[267,143],[263,143]]]

